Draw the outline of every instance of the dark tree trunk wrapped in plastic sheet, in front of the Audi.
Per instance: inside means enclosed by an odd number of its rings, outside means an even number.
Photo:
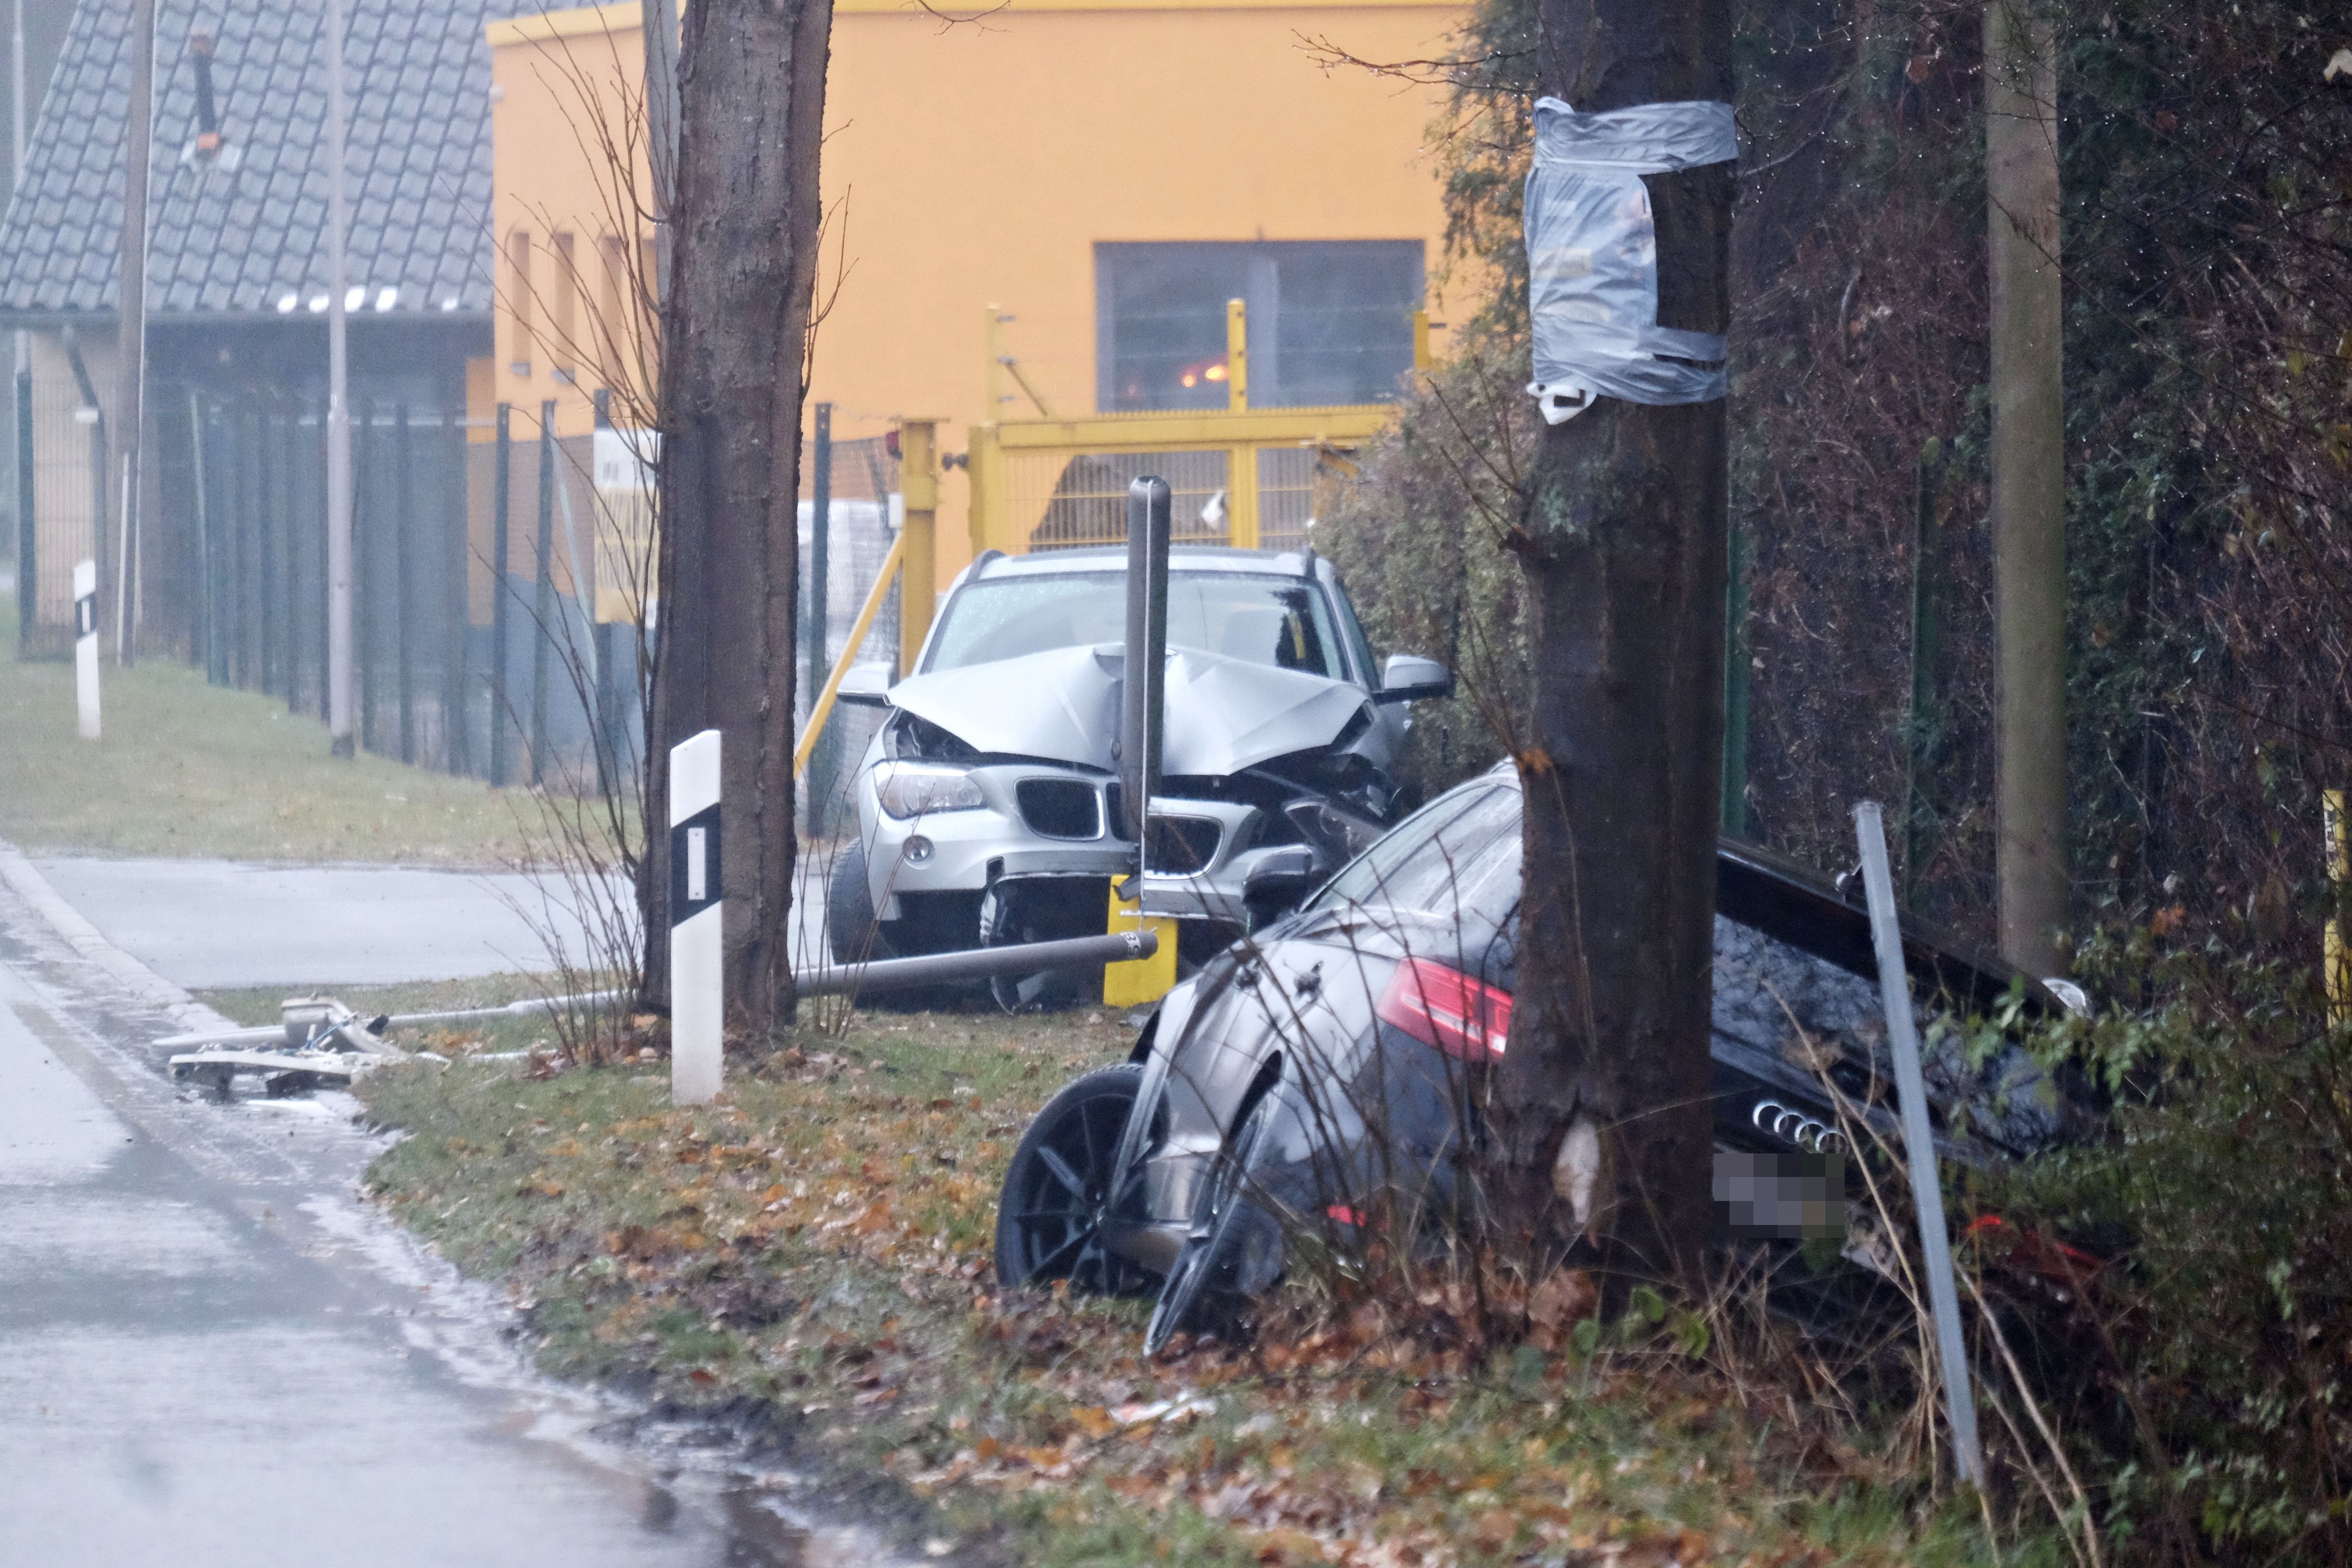
[[[1724,0],[1543,0],[1538,47],[1545,92],[1578,110],[1731,99]],[[1731,167],[1644,183],[1658,324],[1724,331]],[[1712,1222],[1724,404],[1602,397],[1548,428],[1522,527],[1536,691],[1505,1241],[1691,1279]]]

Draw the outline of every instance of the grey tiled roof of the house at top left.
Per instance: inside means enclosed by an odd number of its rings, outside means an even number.
[[[348,0],[348,282],[376,313],[489,310],[489,47],[482,24],[527,0]],[[132,0],[80,0],[26,176],[0,223],[0,315],[115,310]],[[325,5],[158,0],[148,313],[308,313],[327,289]],[[195,141],[188,33],[235,169]],[[223,158],[226,162],[226,158]],[[456,301],[449,306],[447,301]]]

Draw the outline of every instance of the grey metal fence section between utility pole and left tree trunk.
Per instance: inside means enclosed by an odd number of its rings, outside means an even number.
[[[158,559],[141,578],[172,604],[153,607],[151,625],[181,628],[174,642],[214,684],[325,717],[325,407],[181,390],[155,414]],[[635,607],[652,574],[642,465],[597,484],[600,440],[626,433],[562,437],[548,416],[353,402],[365,750],[557,788],[597,788],[635,759],[647,654]]]

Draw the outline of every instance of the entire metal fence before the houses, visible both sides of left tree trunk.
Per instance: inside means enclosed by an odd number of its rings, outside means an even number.
[[[35,386],[54,395],[19,421],[40,496],[26,508],[38,520],[21,562],[35,609],[26,646],[64,651],[61,562],[106,557],[106,430],[99,402],[64,376]],[[325,400],[158,386],[148,414],[139,644],[325,719]],[[800,724],[835,665],[896,665],[901,642],[896,585],[849,639],[903,527],[896,440],[835,442],[828,416],[818,404],[800,484]],[[652,437],[602,418],[593,435],[557,435],[553,404],[468,418],[456,388],[416,402],[358,395],[360,748],[496,785],[588,790],[633,769],[652,654],[640,625],[654,602],[654,456]],[[811,832],[837,818],[873,726],[870,710],[833,712],[802,776]]]

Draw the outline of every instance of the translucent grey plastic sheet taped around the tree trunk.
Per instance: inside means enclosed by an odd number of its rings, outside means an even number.
[[[1724,334],[1658,324],[1658,228],[1644,174],[1738,155],[1729,103],[1639,103],[1581,115],[1536,101],[1526,174],[1534,393],[1545,423],[1595,397],[1670,404],[1724,395]]]

